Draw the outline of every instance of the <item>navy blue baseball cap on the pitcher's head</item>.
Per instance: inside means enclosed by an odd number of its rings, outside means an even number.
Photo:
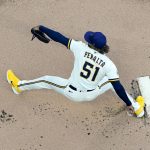
[[[103,48],[107,43],[106,36],[102,32],[87,31],[84,34],[84,39],[98,49]]]

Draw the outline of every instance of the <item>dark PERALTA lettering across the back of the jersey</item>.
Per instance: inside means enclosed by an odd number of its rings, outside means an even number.
[[[101,60],[99,57],[97,57],[89,52],[85,52],[84,57],[93,60],[95,63],[97,63],[101,67],[104,67],[104,65],[105,65],[105,62],[103,60]]]

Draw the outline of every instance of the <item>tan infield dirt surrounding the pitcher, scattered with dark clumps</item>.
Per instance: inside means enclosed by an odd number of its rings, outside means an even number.
[[[105,33],[127,91],[132,79],[150,74],[149,0],[1,0],[0,150],[149,150],[149,119],[129,117],[111,91],[85,103],[50,90],[13,94],[8,69],[33,79],[68,78],[73,68],[64,46],[31,41],[39,24],[82,41],[88,30]]]

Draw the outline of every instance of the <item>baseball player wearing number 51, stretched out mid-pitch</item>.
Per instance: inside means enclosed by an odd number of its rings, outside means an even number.
[[[43,76],[33,80],[20,80],[12,70],[7,71],[7,80],[15,94],[25,90],[53,89],[68,99],[82,102],[92,101],[107,90],[113,90],[137,117],[144,115],[144,100],[134,100],[119,80],[115,64],[106,56],[109,52],[106,36],[101,32],[88,31],[84,35],[87,42],[69,39],[61,33],[45,26],[31,29],[32,40],[61,43],[74,54],[74,67],[69,79],[57,76]]]

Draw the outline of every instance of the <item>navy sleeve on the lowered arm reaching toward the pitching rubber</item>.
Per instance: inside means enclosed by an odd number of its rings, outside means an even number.
[[[131,101],[129,100],[124,87],[120,83],[120,81],[111,82],[113,85],[117,95],[126,103],[127,106],[131,106]]]

